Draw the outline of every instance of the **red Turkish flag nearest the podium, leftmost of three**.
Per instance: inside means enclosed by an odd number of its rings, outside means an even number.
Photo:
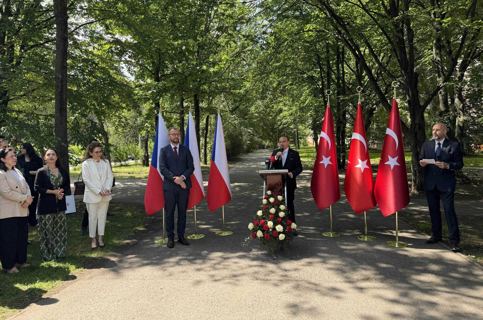
[[[327,208],[341,198],[336,151],[334,118],[327,105],[310,181],[313,200],[319,210]]]

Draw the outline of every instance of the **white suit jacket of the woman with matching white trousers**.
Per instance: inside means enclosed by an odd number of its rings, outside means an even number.
[[[99,203],[101,201],[110,201],[112,199],[111,195],[99,195],[102,188],[111,191],[114,179],[113,170],[111,170],[109,161],[100,159],[99,163],[102,178],[99,176],[97,163],[94,159],[89,158],[82,163],[82,180],[84,180],[85,183],[85,203]]]

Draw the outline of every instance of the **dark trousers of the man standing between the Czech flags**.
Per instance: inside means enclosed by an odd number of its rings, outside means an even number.
[[[166,210],[166,234],[169,238],[174,237],[174,209],[178,207],[178,237],[185,235],[186,208],[188,207],[189,189],[183,189],[176,184],[173,190],[163,190],[164,209]]]

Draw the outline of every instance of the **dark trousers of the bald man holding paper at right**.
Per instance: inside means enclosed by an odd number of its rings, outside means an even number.
[[[431,218],[431,231],[433,237],[440,239],[441,236],[441,210],[440,199],[443,202],[444,215],[448,230],[450,232],[451,243],[459,243],[459,226],[458,218],[455,212],[455,192],[439,191],[435,186],[433,190],[426,190],[427,206],[429,208],[429,216]]]

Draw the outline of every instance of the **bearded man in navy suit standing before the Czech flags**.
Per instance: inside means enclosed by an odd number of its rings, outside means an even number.
[[[159,171],[164,177],[163,195],[166,209],[167,247],[174,247],[174,209],[178,207],[178,242],[187,246],[185,239],[186,208],[188,207],[191,174],[195,170],[189,148],[181,145],[180,130],[168,130],[170,144],[159,151]]]

